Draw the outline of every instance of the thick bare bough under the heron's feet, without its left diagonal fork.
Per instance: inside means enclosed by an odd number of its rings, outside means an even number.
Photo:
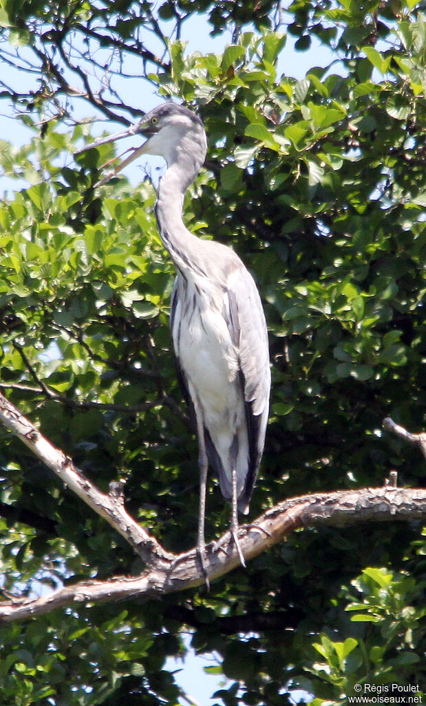
[[[426,517],[425,489],[387,486],[320,493],[279,503],[252,525],[240,527],[239,540],[245,561],[250,561],[299,527],[354,525],[365,520],[413,520],[422,517]],[[206,549],[210,581],[238,566],[238,554],[229,532]],[[24,620],[75,603],[110,602],[130,597],[147,600],[204,582],[193,549],[172,557],[168,562],[159,562],[136,577],[80,582],[35,600],[14,599],[1,603],[0,622]]]

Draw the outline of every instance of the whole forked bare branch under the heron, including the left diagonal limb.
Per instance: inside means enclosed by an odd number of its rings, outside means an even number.
[[[171,554],[126,512],[120,484],[101,493],[56,449],[31,421],[0,393],[0,421],[51,468],[78,496],[125,537],[147,568],[135,577],[87,581],[67,586],[37,599],[12,599],[0,604],[0,621],[12,622],[70,604],[107,602],[128,597],[148,599],[202,585],[205,576],[196,549]],[[239,528],[245,561],[255,558],[300,527],[341,526],[373,520],[414,520],[426,517],[426,489],[400,489],[392,482],[380,488],[315,493],[270,508],[250,525]],[[230,532],[206,547],[209,580],[229,573],[239,564]]]

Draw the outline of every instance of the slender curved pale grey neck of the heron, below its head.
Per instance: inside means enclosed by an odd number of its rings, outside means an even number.
[[[197,265],[200,256],[200,241],[185,228],[182,220],[183,199],[188,186],[193,183],[198,169],[196,165],[188,170],[185,165],[174,162],[169,166],[159,182],[155,215],[162,241],[172,260],[181,272],[188,266]],[[198,253],[198,254],[197,254]]]

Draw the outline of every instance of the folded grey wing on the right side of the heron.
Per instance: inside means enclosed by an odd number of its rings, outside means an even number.
[[[248,510],[264,448],[269,415],[271,371],[267,325],[255,282],[242,266],[229,276],[229,325],[239,352],[245,412],[248,426],[250,463],[239,509]]]

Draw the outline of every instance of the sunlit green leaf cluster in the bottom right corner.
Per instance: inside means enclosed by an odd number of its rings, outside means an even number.
[[[351,589],[343,590],[343,597],[350,601],[346,611],[351,611],[351,621],[358,623],[360,630],[352,630],[356,638],[341,641],[323,634],[321,642],[313,645],[324,660],[307,669],[321,681],[315,693],[326,700],[334,698],[336,702],[345,695],[355,694],[357,684],[382,686],[382,693],[390,693],[389,685],[394,684],[398,684],[398,688],[420,686],[421,693],[420,676],[424,676],[424,669],[419,663],[425,649],[425,634],[420,630],[425,617],[425,608],[421,605],[424,580],[416,583],[406,572],[396,576],[389,570],[369,567],[351,584]],[[313,683],[309,688],[312,686]],[[316,702],[322,703],[322,699]]]

